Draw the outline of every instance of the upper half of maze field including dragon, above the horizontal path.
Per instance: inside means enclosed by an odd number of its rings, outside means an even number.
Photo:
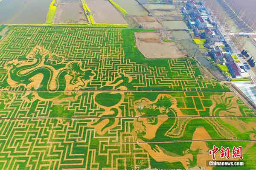
[[[147,30],[12,27],[0,44],[0,68],[3,69],[0,88],[63,91],[67,87],[58,74],[67,77],[67,69],[71,69],[70,75],[72,70],[83,72],[89,69],[94,75],[91,81],[87,81],[85,75],[71,76],[70,80],[80,84],[69,87],[73,90],[100,89],[109,81],[128,75],[129,78],[125,78],[123,83],[129,84],[129,90],[229,91],[218,82],[204,79],[192,59],[145,59],[136,48],[136,31]],[[35,64],[39,64],[34,66],[39,70],[30,69]],[[19,72],[21,68],[23,71]],[[31,74],[26,74],[28,72]],[[55,77],[49,77],[48,72],[54,73]],[[32,79],[38,73],[48,76],[35,85]],[[10,76],[13,78],[8,78]],[[40,82],[47,82],[48,85],[40,85]]]

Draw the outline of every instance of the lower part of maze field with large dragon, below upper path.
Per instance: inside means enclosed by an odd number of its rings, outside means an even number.
[[[76,92],[61,103],[27,93],[38,92],[0,92],[3,169],[188,169],[205,167],[213,145],[242,146],[255,168],[253,112],[231,93]]]

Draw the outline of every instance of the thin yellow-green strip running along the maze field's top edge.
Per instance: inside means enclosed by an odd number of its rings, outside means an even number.
[[[12,24],[9,26],[127,28],[128,24]]]

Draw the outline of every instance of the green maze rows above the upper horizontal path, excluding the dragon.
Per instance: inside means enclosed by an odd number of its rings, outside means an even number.
[[[0,88],[21,90],[6,84],[7,62],[21,62],[36,47],[43,47],[63,57],[64,64],[81,61],[82,68],[92,69],[96,76],[85,89],[100,89],[125,73],[133,80],[129,90],[229,91],[218,82],[205,80],[191,59],[128,59],[123,41],[122,29],[117,28],[12,27],[0,43]],[[42,62],[52,66],[52,62]]]

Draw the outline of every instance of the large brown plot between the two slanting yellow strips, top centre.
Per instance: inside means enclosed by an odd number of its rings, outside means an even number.
[[[127,24],[108,0],[85,0],[96,23]]]

